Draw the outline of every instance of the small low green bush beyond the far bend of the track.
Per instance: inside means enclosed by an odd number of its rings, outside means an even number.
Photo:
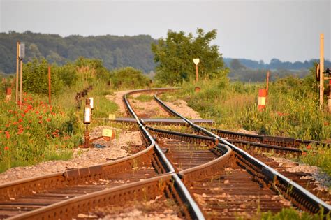
[[[142,71],[133,67],[119,68],[112,71],[110,80],[115,89],[143,88],[148,86],[151,81],[142,74]]]

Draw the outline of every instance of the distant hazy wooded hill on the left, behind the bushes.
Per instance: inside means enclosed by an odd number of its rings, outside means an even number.
[[[148,35],[139,36],[68,36],[37,34],[25,31],[0,33],[0,72],[14,73],[16,68],[16,42],[25,43],[24,62],[47,59],[50,64],[64,65],[79,57],[103,60],[108,68],[133,66],[145,73],[154,70],[151,43]]]

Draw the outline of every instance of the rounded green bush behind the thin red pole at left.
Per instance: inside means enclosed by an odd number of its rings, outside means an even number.
[[[52,94],[59,94],[64,87],[64,82],[59,75],[52,74]],[[48,63],[45,59],[33,61],[23,66],[23,89],[35,94],[48,94]]]

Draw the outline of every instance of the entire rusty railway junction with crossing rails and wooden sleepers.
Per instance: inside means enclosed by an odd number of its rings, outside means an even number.
[[[193,124],[156,96],[172,117],[184,119],[194,132],[147,126],[140,117],[150,117],[155,111],[133,109],[128,100],[138,93],[170,90],[142,89],[124,95],[128,114],[135,118],[146,149],[100,166],[0,185],[0,199],[4,201],[0,203],[0,218],[79,219],[80,214],[96,213],[96,207],[121,207],[159,197],[172,200],[179,207],[176,214],[184,219],[252,217],[258,209],[277,212],[293,205],[311,213],[321,209],[325,214],[330,212],[330,205],[261,162],[263,158],[258,160]],[[300,153],[292,146],[254,143],[255,148]]]

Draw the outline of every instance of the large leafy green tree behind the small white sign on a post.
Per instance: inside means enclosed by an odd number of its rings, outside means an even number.
[[[184,31],[176,33],[169,30],[167,38],[152,43],[152,52],[156,62],[156,80],[173,85],[182,80],[189,80],[195,75],[194,58],[200,59],[200,77],[215,78],[226,70],[219,54],[219,46],[210,45],[216,38],[216,30],[204,34],[197,29],[196,38]]]

